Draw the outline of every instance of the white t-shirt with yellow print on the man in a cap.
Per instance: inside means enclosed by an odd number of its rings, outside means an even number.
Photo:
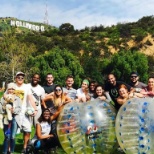
[[[21,114],[25,114],[26,108],[29,106],[28,95],[31,95],[32,93],[27,84],[23,83],[20,87],[16,85],[15,94],[22,100]]]

